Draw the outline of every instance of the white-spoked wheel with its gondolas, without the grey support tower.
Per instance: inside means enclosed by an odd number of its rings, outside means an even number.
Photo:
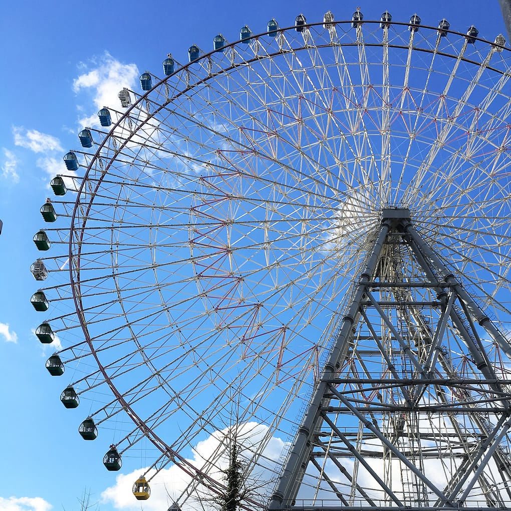
[[[106,468],[150,444],[137,498],[171,466],[187,481],[177,505],[221,494],[235,435],[245,475],[267,482],[242,503],[254,509],[281,474],[382,211],[409,212],[492,321],[511,320],[511,58],[475,27],[359,10],[213,44],[192,45],[185,64],[169,55],[165,78],[144,73],[141,91],[121,90],[101,127],[80,132],[41,207],[31,270],[45,287],[31,301],[51,314],[36,336],[59,346],[46,365],[65,379],[62,403],[93,403],[79,432],[104,442]],[[509,379],[505,351],[485,357]],[[194,457],[211,437],[217,447]],[[319,473],[299,477],[328,498],[321,484],[335,484]],[[347,485],[367,494],[354,473]]]

